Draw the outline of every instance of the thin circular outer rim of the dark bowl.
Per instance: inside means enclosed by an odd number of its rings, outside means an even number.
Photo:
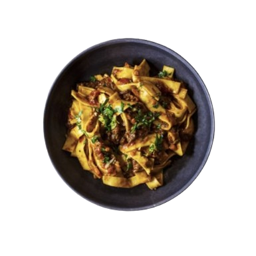
[[[64,177],[59,172],[59,170],[57,170],[57,168],[55,167],[55,164],[51,160],[51,156],[49,155],[49,148],[48,148],[47,142],[45,140],[45,130],[46,130],[46,125],[45,125],[45,122],[44,122],[44,120],[45,120],[45,109],[47,107],[47,104],[48,104],[51,92],[52,92],[56,82],[63,75],[64,71],[70,65],[72,65],[76,60],[78,60],[80,57],[82,57],[82,55],[84,55],[84,53],[90,53],[90,51],[94,51],[95,49],[99,49],[101,47],[107,47],[109,45],[114,45],[114,44],[118,44],[118,43],[141,43],[141,44],[144,44],[144,45],[145,44],[146,45],[150,45],[152,47],[156,47],[158,49],[162,49],[163,51],[167,51],[168,53],[170,53],[171,55],[176,57],[179,61],[181,61],[186,67],[189,68],[189,70],[193,73],[193,75],[195,76],[195,78],[197,79],[199,84],[201,85],[201,88],[203,89],[205,97],[207,98],[207,103],[209,105],[210,119],[211,119],[211,122],[213,124],[213,125],[211,125],[211,130],[210,130],[210,135],[211,136],[209,138],[209,144],[208,144],[208,147],[207,147],[207,151],[205,152],[205,156],[203,158],[203,161],[201,162],[201,165],[199,166],[199,168],[197,168],[197,172],[195,172],[195,174],[192,176],[190,181],[187,182],[176,193],[170,195],[169,197],[166,197],[162,201],[158,201],[157,203],[154,203],[154,204],[151,204],[151,205],[146,205],[146,206],[143,206],[143,207],[116,207],[116,206],[108,205],[106,203],[98,203],[98,201],[94,201],[92,199],[88,199],[86,196],[82,195],[75,188],[72,188],[68,184],[68,182],[66,182],[66,180],[64,180]],[[124,37],[124,38],[108,39],[108,40],[105,40],[105,41],[101,41],[100,43],[96,43],[96,44],[94,44],[94,45],[92,45],[90,47],[87,47],[86,49],[80,51],[80,53],[78,53],[72,59],[70,59],[70,61],[68,61],[68,63],[66,63],[63,66],[63,68],[61,68],[61,70],[59,71],[57,76],[55,76],[55,79],[51,83],[51,86],[50,86],[50,88],[49,88],[49,90],[47,92],[47,97],[45,99],[45,104],[44,104],[44,108],[43,108],[43,140],[44,140],[44,143],[45,143],[45,148],[47,150],[47,156],[49,158],[49,161],[51,162],[51,165],[53,166],[53,169],[55,170],[55,172],[57,173],[59,178],[61,178],[61,180],[64,182],[64,184],[68,188],[70,188],[70,190],[72,190],[72,192],[76,193],[76,195],[78,195],[82,199],[85,199],[89,203],[92,203],[92,204],[94,204],[94,205],[96,205],[98,207],[102,207],[104,209],[109,209],[109,210],[112,210],[112,211],[144,211],[144,210],[147,210],[147,209],[154,209],[156,207],[159,207],[161,205],[164,205],[164,204],[168,203],[169,201],[172,201],[173,199],[175,199],[176,197],[178,197],[182,193],[186,192],[186,190],[188,190],[188,188],[190,188],[190,186],[192,186],[193,182],[195,182],[195,180],[197,180],[198,176],[201,174],[201,172],[205,168],[205,165],[207,164],[207,161],[209,160],[209,156],[211,155],[211,150],[213,148],[213,143],[214,143],[214,140],[215,140],[215,132],[216,132],[215,110],[214,110],[213,102],[212,102],[212,99],[211,99],[211,94],[209,93],[209,90],[208,90],[208,88],[207,88],[203,78],[201,78],[199,72],[197,72],[195,67],[185,57],[180,55],[180,53],[174,51],[173,49],[171,49],[170,47],[167,47],[166,45],[163,45],[162,43],[158,43],[156,41],[152,41],[152,40],[149,40],[149,39],[141,39],[141,38],[134,38],[134,37]]]

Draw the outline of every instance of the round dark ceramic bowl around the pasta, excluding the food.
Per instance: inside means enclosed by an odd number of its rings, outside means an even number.
[[[186,154],[164,171],[164,186],[154,191],[145,184],[131,189],[106,186],[101,180],[94,180],[92,174],[82,170],[76,158],[61,149],[66,134],[70,90],[75,88],[76,82],[89,80],[93,74],[109,74],[112,66],[122,66],[125,62],[139,64],[142,59],[148,61],[153,75],[162,70],[164,64],[174,66],[176,77],[188,84],[197,105],[195,136]],[[47,95],[43,133],[51,164],[68,188],[100,207],[136,211],[162,205],[191,186],[209,158],[215,135],[215,116],[203,80],[186,59],[152,41],[114,39],[85,49],[59,72]]]

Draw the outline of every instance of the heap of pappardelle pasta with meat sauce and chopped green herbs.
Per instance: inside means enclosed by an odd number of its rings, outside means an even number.
[[[143,60],[114,66],[72,90],[63,150],[108,186],[163,185],[163,169],[183,156],[193,135],[196,107],[174,68],[151,77]]]

